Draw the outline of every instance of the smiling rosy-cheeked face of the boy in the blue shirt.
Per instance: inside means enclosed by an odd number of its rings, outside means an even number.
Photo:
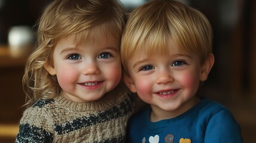
[[[174,43],[168,49],[166,55],[136,52],[128,61],[130,76],[125,75],[124,82],[141,100],[151,104],[152,110],[180,114],[198,101],[195,94],[199,82],[206,80],[212,65],[201,65],[197,55],[180,52]]]

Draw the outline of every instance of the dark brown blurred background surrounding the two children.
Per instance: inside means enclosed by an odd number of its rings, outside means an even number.
[[[35,42],[33,25],[48,2],[50,0],[0,0],[0,142],[14,142],[16,138],[25,102],[21,86],[24,62]],[[131,11],[146,0],[122,2]],[[244,142],[254,142],[256,1],[181,2],[202,11],[214,30],[215,65],[201,94],[226,105],[242,128]]]

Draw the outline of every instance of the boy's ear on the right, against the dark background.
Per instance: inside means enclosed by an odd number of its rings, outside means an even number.
[[[209,54],[205,63],[203,63],[203,65],[201,66],[201,74],[200,74],[201,81],[205,81],[207,79],[208,74],[211,71],[213,65],[214,65],[214,55]]]

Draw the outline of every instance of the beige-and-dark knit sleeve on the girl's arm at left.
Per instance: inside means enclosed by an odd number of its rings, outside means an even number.
[[[53,142],[53,122],[45,108],[35,105],[27,108],[19,128],[16,142]]]

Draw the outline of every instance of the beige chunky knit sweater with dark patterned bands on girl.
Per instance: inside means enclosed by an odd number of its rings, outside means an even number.
[[[133,96],[123,89],[94,102],[40,99],[24,111],[16,142],[125,142]]]

